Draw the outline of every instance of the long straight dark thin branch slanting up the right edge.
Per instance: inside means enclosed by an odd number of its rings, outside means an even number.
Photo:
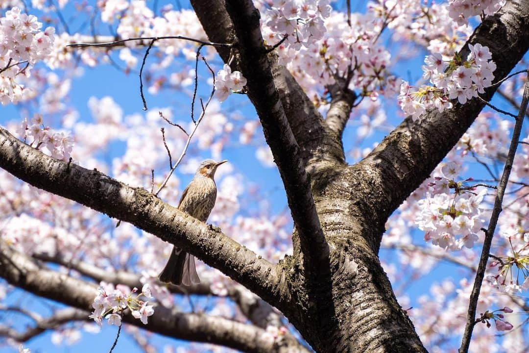
[[[472,331],[476,325],[476,307],[478,305],[479,292],[483,278],[485,277],[485,269],[487,267],[487,261],[490,254],[490,245],[492,243],[492,237],[496,230],[496,224],[498,223],[498,217],[501,212],[501,202],[503,201],[503,195],[507,188],[510,171],[513,168],[514,156],[516,154],[516,148],[518,147],[518,141],[520,133],[522,131],[522,125],[524,122],[525,111],[527,110],[527,103],[529,102],[529,77],[525,79],[525,88],[522,98],[522,104],[520,104],[520,110],[516,117],[516,124],[513,129],[513,137],[510,141],[509,152],[507,153],[507,159],[505,161],[505,167],[503,169],[503,175],[499,182],[498,192],[496,193],[496,200],[494,201],[494,208],[492,209],[492,215],[490,216],[489,226],[485,232],[485,240],[483,242],[483,248],[481,250],[481,257],[479,259],[478,271],[476,273],[476,279],[472,287],[472,293],[470,294],[470,303],[468,306],[467,324],[464,329],[463,339],[461,341],[461,347],[459,353],[467,353],[470,345],[470,339],[472,338]]]

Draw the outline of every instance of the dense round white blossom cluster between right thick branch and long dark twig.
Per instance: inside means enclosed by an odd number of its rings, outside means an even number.
[[[431,182],[431,193],[417,202],[419,213],[415,223],[425,231],[424,239],[444,249],[459,250],[463,246],[472,248],[481,229],[481,202],[485,191],[473,192],[474,187],[453,179],[460,167],[450,162],[442,168],[444,177]],[[469,179],[465,180],[465,182]],[[450,189],[454,189],[453,197]]]

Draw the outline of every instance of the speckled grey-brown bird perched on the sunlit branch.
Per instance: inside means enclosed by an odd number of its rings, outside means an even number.
[[[227,160],[216,162],[212,159],[206,159],[200,163],[195,176],[180,197],[178,210],[193,216],[199,221],[207,221],[217,198],[217,186],[214,179],[215,171],[218,166],[225,162]],[[167,264],[158,275],[158,279],[163,283],[185,286],[200,283],[200,278],[198,278],[195,268],[195,257],[173,246]]]

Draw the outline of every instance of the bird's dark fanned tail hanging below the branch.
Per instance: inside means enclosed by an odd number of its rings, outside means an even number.
[[[172,283],[177,286],[181,284],[190,286],[200,283],[195,268],[195,257],[177,247],[172,247],[171,256],[169,256],[169,260],[167,260],[167,264],[158,278],[161,282]]]

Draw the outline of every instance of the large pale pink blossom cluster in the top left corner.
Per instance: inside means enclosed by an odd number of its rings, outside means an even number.
[[[21,13],[19,7],[6,11],[0,18],[0,103],[19,102],[28,89],[17,83],[18,75],[29,76],[29,69],[18,64],[34,65],[44,59],[53,46],[55,30],[41,31],[42,23],[34,15]]]

